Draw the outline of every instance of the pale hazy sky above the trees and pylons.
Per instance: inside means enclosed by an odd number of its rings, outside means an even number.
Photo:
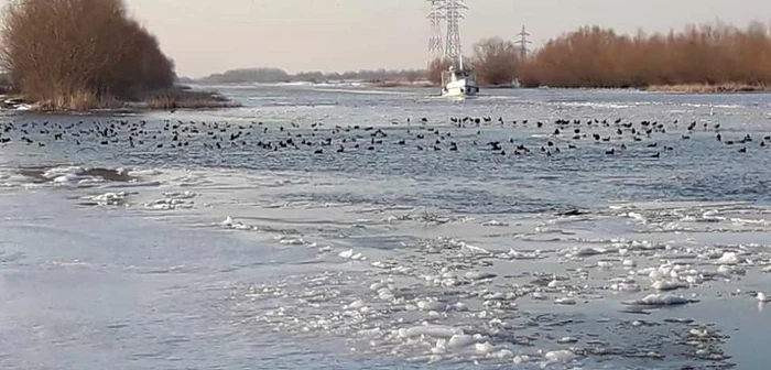
[[[7,1],[7,0],[6,0]],[[154,33],[181,76],[238,67],[301,70],[422,68],[426,0],[126,0]],[[578,26],[667,31],[720,20],[771,21],[770,0],[466,0],[461,43],[513,39],[522,25],[534,45]]]

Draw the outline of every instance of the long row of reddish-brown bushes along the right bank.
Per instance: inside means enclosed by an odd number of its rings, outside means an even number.
[[[550,41],[518,77],[530,87],[762,89],[771,86],[771,34],[759,23],[745,30],[717,24],[634,36],[583,28]]]

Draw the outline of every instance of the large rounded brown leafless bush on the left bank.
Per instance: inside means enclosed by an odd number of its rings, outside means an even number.
[[[173,62],[122,0],[20,0],[2,15],[0,63],[40,109],[115,108],[174,84]]]

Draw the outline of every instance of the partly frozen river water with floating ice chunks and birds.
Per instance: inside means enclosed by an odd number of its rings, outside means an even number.
[[[771,361],[771,95],[217,89],[2,116],[0,366]]]

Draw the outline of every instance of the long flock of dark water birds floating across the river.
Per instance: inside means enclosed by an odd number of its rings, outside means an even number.
[[[68,141],[75,145],[128,145],[129,148],[227,150],[253,148],[268,151],[306,150],[314,154],[327,152],[377,151],[386,145],[412,148],[416,151],[450,151],[463,149],[486,150],[497,155],[553,156],[579,145],[605,145],[606,155],[618,154],[629,145],[641,142],[650,152],[648,156],[660,157],[662,152],[673,151],[658,142],[656,135],[678,132],[680,140],[691,139],[697,131],[713,132],[725,145],[738,145],[738,152],[747,152],[753,138],[740,134],[728,138],[719,123],[681,123],[678,120],[659,122],[642,120],[607,119],[556,119],[552,121],[493,120],[491,117],[452,117],[444,122],[430,122],[427,118],[392,122],[393,127],[339,126],[327,128],[323,122],[308,127],[291,123],[287,127],[250,123],[182,121],[170,119],[160,124],[146,120],[78,121],[61,123],[54,121],[0,122],[0,145],[19,142],[46,146],[52,142]],[[501,130],[504,129],[504,130]],[[507,137],[511,130],[530,130],[530,139]],[[487,131],[487,132],[484,132]],[[736,135],[736,133],[730,133]],[[487,138],[487,139],[482,139]],[[496,138],[495,140],[488,140]],[[522,139],[522,138],[520,138]],[[771,144],[771,135],[758,140],[758,146]],[[464,148],[466,146],[466,148]]]

